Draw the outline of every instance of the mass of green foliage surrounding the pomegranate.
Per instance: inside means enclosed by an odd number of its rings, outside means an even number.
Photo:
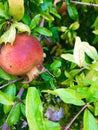
[[[29,84],[0,68],[1,129],[98,129],[98,6],[88,6],[98,1],[55,2],[0,0],[1,47],[17,33],[33,35],[46,68]]]

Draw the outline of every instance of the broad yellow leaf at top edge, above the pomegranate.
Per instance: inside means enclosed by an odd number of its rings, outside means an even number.
[[[10,14],[14,20],[19,21],[24,15],[24,0],[8,0]]]

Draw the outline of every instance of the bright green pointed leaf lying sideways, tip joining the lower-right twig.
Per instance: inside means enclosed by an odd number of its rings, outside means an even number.
[[[59,96],[63,102],[68,103],[68,104],[73,104],[77,106],[82,106],[85,103],[80,99],[80,97],[76,94],[76,91],[73,89],[55,89],[54,91],[52,90],[44,90],[43,92],[49,92],[53,95]]]

